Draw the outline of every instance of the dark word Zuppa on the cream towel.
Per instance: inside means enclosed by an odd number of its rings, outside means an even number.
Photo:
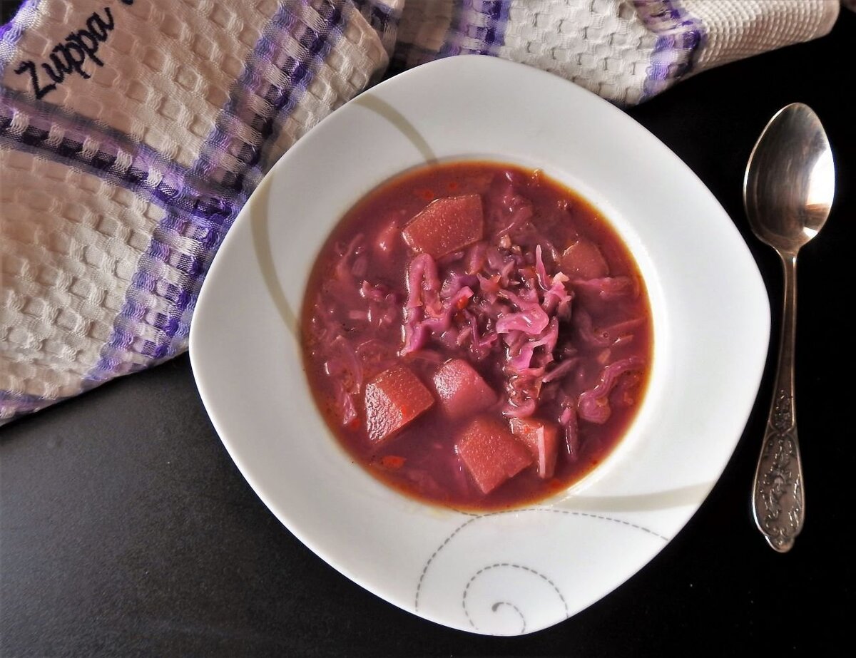
[[[122,0],[122,3],[131,5],[134,0]],[[76,73],[84,80],[89,80],[92,76],[83,68],[86,62],[104,66],[104,61],[98,57],[98,48],[110,36],[116,27],[116,21],[110,7],[104,7],[102,13],[103,15],[97,11],[92,12],[86,19],[85,27],[73,30],[64,41],[54,45],[49,57],[50,62],[37,64],[32,59],[27,59],[18,64],[15,73],[30,76],[37,99],[41,100],[56,90],[56,86],[62,85],[67,75]]]

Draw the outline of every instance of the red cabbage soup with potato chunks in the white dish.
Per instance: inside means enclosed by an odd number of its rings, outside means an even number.
[[[538,169],[456,162],[348,211],[312,268],[301,341],[355,462],[421,501],[496,510],[615,448],[653,333],[632,254],[585,199]]]

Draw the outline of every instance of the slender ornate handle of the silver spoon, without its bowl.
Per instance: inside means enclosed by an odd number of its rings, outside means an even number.
[[[782,335],[776,388],[764,443],[758,457],[752,503],[758,530],[771,547],[786,553],[802,530],[805,517],[800,443],[794,406],[794,338],[797,310],[796,254],[780,254],[785,275]]]

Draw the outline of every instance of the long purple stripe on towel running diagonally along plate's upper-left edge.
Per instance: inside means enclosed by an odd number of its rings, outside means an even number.
[[[289,57],[278,66],[287,78],[283,86],[271,86],[263,81],[256,74],[257,65],[270,62],[272,50],[276,50],[272,48],[273,44],[282,47],[279,45],[282,40],[276,36],[292,25],[295,16],[288,6],[280,6],[265,28],[264,36],[256,44],[241,78],[233,86],[217,126],[206,139],[202,154],[192,167],[194,175],[213,175],[223,187],[231,189],[234,196],[224,195],[222,204],[209,211],[196,214],[179,211],[164,218],[152,236],[146,255],[140,259],[140,269],[128,288],[110,340],[101,351],[98,365],[87,374],[87,380],[104,381],[116,374],[140,370],[150,365],[151,360],[157,362],[175,356],[183,347],[189,333],[189,318],[211,258],[235,220],[237,211],[247,200],[250,188],[260,178],[261,152],[265,141],[274,133],[274,117],[280,110],[290,111],[296,106],[329,49],[330,40],[339,39],[342,35],[344,19],[341,6],[330,0],[314,6],[321,17],[320,24],[314,29],[306,27],[296,35],[303,48],[297,59]],[[259,94],[263,87],[265,92]],[[270,116],[241,116],[248,107],[245,99],[250,94],[269,100],[272,105]],[[243,144],[229,131],[229,123],[235,117],[259,131],[259,144]],[[234,153],[239,145],[236,161],[229,168],[225,164],[231,161],[229,153]],[[192,240],[189,254],[187,248],[179,251],[172,246],[176,239],[197,229],[201,231],[200,237]],[[165,271],[170,271],[179,283],[166,282]],[[152,298],[156,296],[169,301],[167,312],[152,311]]]

